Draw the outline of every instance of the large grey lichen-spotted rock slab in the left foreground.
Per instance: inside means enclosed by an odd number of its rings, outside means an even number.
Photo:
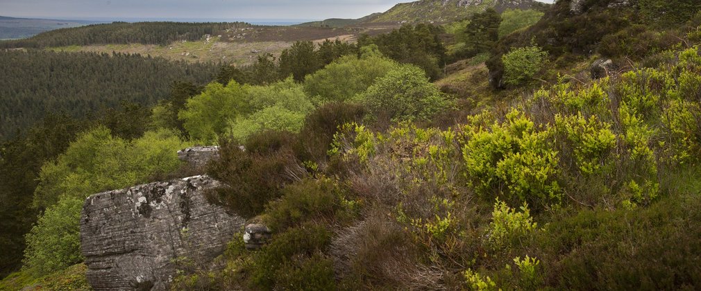
[[[94,194],[81,216],[81,252],[95,290],[168,290],[177,259],[208,265],[245,220],[207,203],[208,176]]]

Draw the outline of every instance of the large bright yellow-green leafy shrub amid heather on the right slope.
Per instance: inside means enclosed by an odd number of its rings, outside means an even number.
[[[468,126],[463,159],[470,185],[482,196],[494,193],[506,201],[531,205],[558,203],[557,151],[547,142],[552,130],[541,129],[519,111],[491,128]],[[502,196],[503,195],[503,196]]]

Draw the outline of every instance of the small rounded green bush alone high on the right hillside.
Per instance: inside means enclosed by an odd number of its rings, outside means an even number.
[[[543,69],[547,62],[547,52],[536,45],[525,48],[512,48],[501,57],[504,64],[504,83],[521,85],[536,78],[536,73]]]

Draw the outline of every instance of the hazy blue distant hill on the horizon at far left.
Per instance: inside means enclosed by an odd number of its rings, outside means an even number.
[[[29,38],[45,31],[68,27],[81,27],[92,23],[95,22],[0,16],[0,39]]]

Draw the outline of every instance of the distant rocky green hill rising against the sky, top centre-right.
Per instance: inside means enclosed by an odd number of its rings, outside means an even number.
[[[420,0],[399,3],[368,22],[453,22],[487,8],[498,12],[508,8],[543,10],[550,6],[533,0]]]

